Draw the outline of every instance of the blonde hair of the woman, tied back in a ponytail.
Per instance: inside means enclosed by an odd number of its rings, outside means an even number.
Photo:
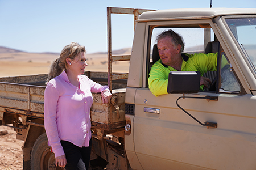
[[[82,46],[77,42],[72,42],[71,44],[66,45],[61,51],[60,57],[55,59],[55,61],[52,63],[47,82],[60,75],[63,70],[67,70],[67,58],[73,60],[81,52],[85,52],[85,46]]]

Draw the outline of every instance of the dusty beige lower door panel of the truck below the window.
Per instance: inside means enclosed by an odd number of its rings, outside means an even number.
[[[256,97],[207,92],[189,96],[205,95],[218,101],[180,99],[179,104],[201,122],[217,122],[218,128],[207,129],[181,111],[176,106],[180,94],[155,97],[146,88],[137,90],[134,145],[144,169],[256,167],[256,117],[246,112]]]

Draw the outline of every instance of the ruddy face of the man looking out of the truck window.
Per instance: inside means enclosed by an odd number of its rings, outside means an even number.
[[[158,53],[165,65],[175,65],[180,52],[180,45],[175,47],[171,42],[171,37],[165,37],[158,41]]]

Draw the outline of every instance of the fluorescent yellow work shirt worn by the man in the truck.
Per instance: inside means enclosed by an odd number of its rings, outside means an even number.
[[[200,71],[201,76],[207,71],[217,70],[217,53],[187,54],[183,53],[181,71]],[[164,65],[159,59],[150,70],[148,86],[153,95],[167,94],[168,75],[170,71],[177,71],[171,66]],[[203,86],[200,86],[203,90]]]

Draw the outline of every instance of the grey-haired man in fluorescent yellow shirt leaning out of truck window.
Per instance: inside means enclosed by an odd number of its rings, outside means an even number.
[[[207,71],[217,70],[217,53],[183,53],[183,38],[171,29],[158,35],[156,41],[160,59],[152,66],[148,78],[148,85],[153,95],[167,94],[170,71],[200,71],[200,90],[209,88],[210,79],[202,75]]]

